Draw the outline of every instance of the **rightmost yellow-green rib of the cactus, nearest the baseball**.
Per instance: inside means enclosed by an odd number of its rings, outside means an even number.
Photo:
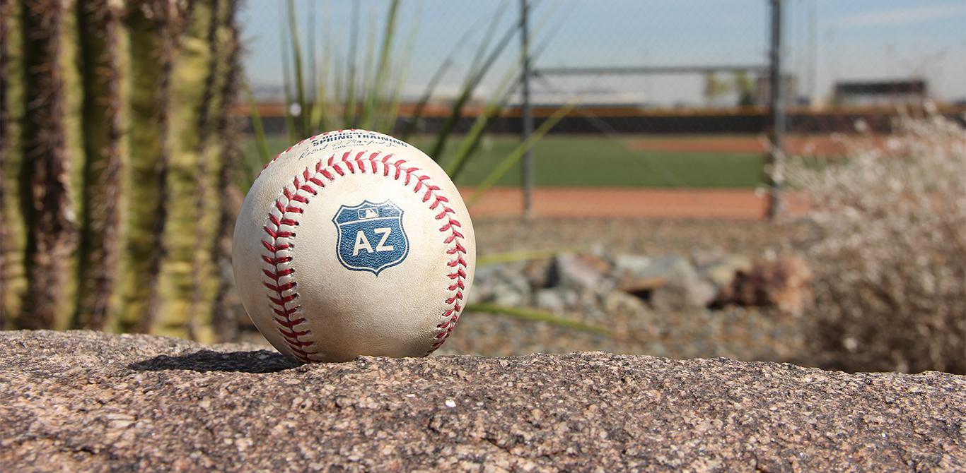
[[[192,320],[207,318],[214,289],[208,277],[211,258],[202,242],[214,234],[218,198],[208,146],[217,78],[215,4],[195,3],[190,18],[185,18],[172,70],[171,201],[165,234],[169,254],[155,331],[179,337],[198,336],[201,328]],[[191,327],[197,330],[192,333]]]

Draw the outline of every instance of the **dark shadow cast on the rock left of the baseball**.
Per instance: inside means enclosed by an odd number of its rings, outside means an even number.
[[[257,351],[221,352],[203,349],[178,356],[160,355],[144,361],[131,363],[131,370],[158,372],[190,370],[195,372],[274,373],[290,370],[298,363],[264,349]]]

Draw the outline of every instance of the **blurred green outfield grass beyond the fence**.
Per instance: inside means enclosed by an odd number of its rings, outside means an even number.
[[[585,135],[551,135],[534,149],[538,186],[574,187],[659,187],[659,188],[751,188],[762,181],[760,153],[691,153],[632,151],[629,143],[640,136],[608,138]],[[646,138],[644,138],[646,139]],[[432,146],[432,137],[416,137],[420,149]],[[519,143],[515,136],[489,138],[456,183],[474,185],[482,181],[502,156]],[[287,148],[284,138],[270,138],[271,153]],[[459,146],[453,141],[452,153]],[[248,140],[245,153],[256,153]],[[443,155],[441,162],[449,157]],[[520,185],[520,166],[498,182]]]

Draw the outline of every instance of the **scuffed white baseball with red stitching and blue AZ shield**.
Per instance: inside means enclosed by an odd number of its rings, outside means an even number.
[[[279,153],[245,196],[233,248],[248,316],[305,363],[431,353],[460,319],[476,260],[440,166],[357,129]]]

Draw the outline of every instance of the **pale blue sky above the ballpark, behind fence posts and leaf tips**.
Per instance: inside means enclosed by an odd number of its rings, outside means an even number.
[[[353,2],[295,0],[303,42],[315,37],[324,51],[347,64]],[[358,39],[382,38],[388,0],[359,0]],[[767,64],[766,0],[531,0],[534,69],[601,66]],[[282,84],[280,19],[284,2],[250,0],[241,12],[244,65],[256,89]],[[310,7],[310,5],[312,7]],[[453,55],[439,96],[455,94],[477,45],[497,42],[518,21],[518,0],[402,0],[394,68],[404,95],[418,97],[440,63]],[[784,0],[784,70],[798,76],[800,96],[828,97],[838,80],[923,77],[941,100],[966,98],[966,0]],[[490,30],[491,19],[497,27]],[[407,47],[412,44],[412,47]],[[303,46],[308,50],[308,46]],[[453,52],[455,48],[455,53]],[[400,51],[411,51],[405,54]],[[514,39],[479,90],[487,97],[515,69]],[[359,70],[365,46],[355,51]],[[333,59],[335,60],[335,59]],[[509,72],[508,72],[509,71]],[[537,100],[582,97],[671,105],[701,103],[698,74],[546,77],[534,83]]]

